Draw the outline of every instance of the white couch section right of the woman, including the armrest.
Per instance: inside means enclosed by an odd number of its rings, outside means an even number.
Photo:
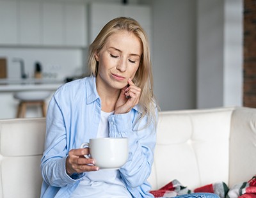
[[[256,109],[246,107],[161,112],[148,181],[158,189],[177,179],[191,190],[248,181],[256,174],[255,128]]]

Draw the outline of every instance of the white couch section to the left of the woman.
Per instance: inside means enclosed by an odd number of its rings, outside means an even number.
[[[0,197],[40,197],[45,118],[0,119]]]

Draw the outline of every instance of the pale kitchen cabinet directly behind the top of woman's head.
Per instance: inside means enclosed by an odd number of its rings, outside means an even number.
[[[138,4],[106,4],[91,3],[89,8],[89,42],[92,43],[100,29],[116,17],[131,17],[141,24],[143,29],[151,37],[151,11],[150,6]],[[150,38],[151,40],[151,38]]]

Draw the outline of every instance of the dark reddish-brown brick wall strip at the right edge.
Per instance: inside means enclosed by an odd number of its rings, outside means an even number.
[[[243,105],[256,107],[256,1],[244,0]]]

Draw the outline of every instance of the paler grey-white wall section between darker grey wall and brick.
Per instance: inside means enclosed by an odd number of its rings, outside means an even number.
[[[198,0],[197,107],[243,105],[243,1]]]

